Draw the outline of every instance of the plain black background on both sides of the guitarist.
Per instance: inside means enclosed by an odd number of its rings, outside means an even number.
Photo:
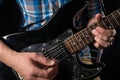
[[[106,15],[120,8],[120,0],[104,0]],[[18,32],[21,14],[15,0],[4,0],[0,5],[0,35]],[[104,50],[102,62],[106,68],[101,73],[102,80],[120,80],[120,27],[114,44]]]

